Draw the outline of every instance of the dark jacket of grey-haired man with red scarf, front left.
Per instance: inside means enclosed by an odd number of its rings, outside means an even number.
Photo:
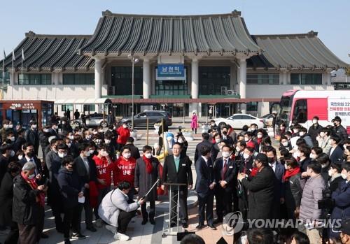
[[[39,196],[38,189],[32,189],[22,175],[13,179],[13,221],[18,224],[34,225],[40,222],[38,215],[43,208],[36,197]]]

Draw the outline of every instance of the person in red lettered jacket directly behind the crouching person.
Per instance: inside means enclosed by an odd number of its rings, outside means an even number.
[[[135,178],[135,167],[136,160],[131,157],[131,151],[127,147],[123,147],[120,150],[120,157],[116,162],[116,174],[113,173],[113,183],[118,185],[119,182],[127,181],[131,184],[131,189],[129,191],[129,199],[134,198],[134,178]]]

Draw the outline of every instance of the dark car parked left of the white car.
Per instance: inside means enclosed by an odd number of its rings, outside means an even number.
[[[147,127],[147,118],[148,118],[148,127],[153,127],[154,124],[162,122],[162,119],[164,119],[167,126],[172,125],[172,115],[170,115],[167,111],[163,110],[152,110],[152,111],[145,111],[142,113],[138,113],[137,115],[134,115],[134,127]],[[122,120],[120,120],[120,124],[123,122],[127,122],[127,126],[131,127],[132,125],[132,118],[131,117],[123,117]]]

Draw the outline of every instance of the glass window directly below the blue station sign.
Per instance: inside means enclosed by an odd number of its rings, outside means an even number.
[[[186,80],[155,80],[155,95],[188,95]]]

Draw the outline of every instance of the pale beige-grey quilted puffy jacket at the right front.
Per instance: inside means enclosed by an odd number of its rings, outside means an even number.
[[[300,220],[303,222],[317,220],[321,217],[321,209],[318,209],[318,200],[323,199],[322,191],[325,189],[325,180],[322,175],[313,178],[300,179],[303,189],[300,203]]]

